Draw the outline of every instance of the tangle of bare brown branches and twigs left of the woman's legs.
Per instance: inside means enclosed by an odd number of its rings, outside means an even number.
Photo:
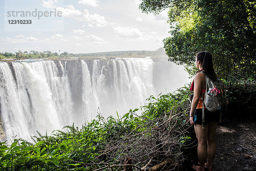
[[[130,157],[141,170],[168,159],[171,162],[168,162],[166,170],[175,169],[184,161],[182,148],[185,148],[186,140],[190,139],[187,130],[190,127],[187,125],[189,119],[185,116],[188,110],[169,112],[154,119],[138,116],[143,122],[131,132],[117,133],[119,136],[111,138],[104,150],[99,151],[102,154],[99,159],[120,163]]]

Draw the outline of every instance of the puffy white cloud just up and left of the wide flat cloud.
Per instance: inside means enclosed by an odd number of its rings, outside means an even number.
[[[104,16],[99,14],[90,14],[87,9],[84,10],[84,19],[89,22],[90,27],[105,27],[107,26],[107,21],[105,21]]]

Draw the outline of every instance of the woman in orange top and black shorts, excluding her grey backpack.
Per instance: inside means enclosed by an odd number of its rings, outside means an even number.
[[[205,121],[204,129],[202,128],[202,104],[201,98],[204,98],[206,89],[205,75],[213,81],[217,80],[217,75],[213,69],[212,55],[210,52],[198,52],[196,55],[195,66],[200,71],[195,75],[190,90],[194,90],[189,121],[195,126],[195,134],[198,139],[198,160],[200,166],[192,165],[196,171],[212,171],[212,163],[216,153],[215,132],[217,122],[219,121],[220,112],[210,112],[204,107]],[[206,148],[207,145],[207,148]],[[206,162],[207,158],[207,162]],[[206,162],[206,163],[205,163]]]

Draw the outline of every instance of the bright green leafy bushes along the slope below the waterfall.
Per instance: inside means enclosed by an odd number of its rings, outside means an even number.
[[[118,156],[125,156],[127,152],[124,148],[115,148],[108,154],[102,151],[111,148],[111,143],[116,147],[116,142],[125,142],[128,135],[137,139],[139,134],[145,139],[154,138],[149,130],[156,132],[162,130],[159,125],[164,126],[165,122],[160,123],[166,116],[175,116],[174,121],[168,124],[173,128],[179,129],[171,142],[177,142],[171,149],[173,154],[179,154],[186,142],[190,139],[188,134],[180,134],[181,128],[186,127],[187,114],[181,107],[186,108],[189,90],[186,87],[180,88],[176,93],[160,94],[158,98],[150,96],[148,104],[145,104],[143,114],[138,116],[139,109],[129,110],[124,116],[118,119],[113,116],[107,119],[100,114],[90,123],[82,125],[81,128],[74,125],[65,126],[63,130],[54,130],[52,135],[47,133],[33,136],[34,143],[24,139],[14,139],[12,144],[0,143],[0,170],[1,171],[90,171],[99,168],[101,165],[93,163],[108,162],[108,164],[122,164]],[[169,121],[170,122],[170,121]],[[149,124],[152,123],[152,124]],[[159,127],[159,128],[158,128]],[[184,130],[187,128],[183,128]],[[167,131],[169,132],[169,131]],[[142,133],[142,134],[141,134]],[[177,134],[179,133],[179,134]],[[149,141],[149,140],[147,140]],[[131,142],[132,143],[132,142]],[[151,144],[154,147],[154,144]],[[140,147],[129,146],[130,152],[140,149]],[[140,149],[143,150],[143,149]],[[151,151],[151,149],[148,149]],[[139,153],[141,156],[141,153]],[[155,155],[155,154],[152,154]],[[180,154],[174,158],[179,159]],[[136,160],[136,159],[134,159]],[[144,159],[143,159],[144,161]],[[148,162],[148,161],[144,161]],[[106,169],[108,170],[108,169]]]

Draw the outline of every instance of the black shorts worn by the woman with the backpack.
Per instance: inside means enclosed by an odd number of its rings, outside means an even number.
[[[220,113],[219,110],[210,112],[209,110],[204,109],[204,125],[209,124],[209,122],[219,122]],[[202,125],[202,109],[195,109],[194,115],[195,124]]]

